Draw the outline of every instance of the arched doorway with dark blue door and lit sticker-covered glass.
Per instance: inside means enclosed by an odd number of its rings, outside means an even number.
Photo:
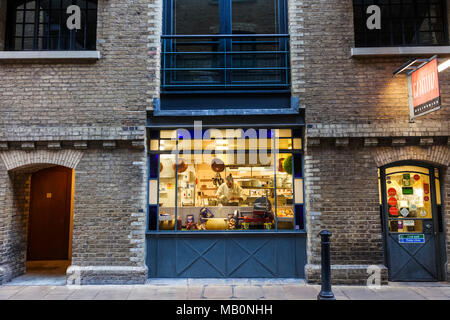
[[[380,168],[385,260],[390,281],[445,279],[439,167],[402,161]]]

